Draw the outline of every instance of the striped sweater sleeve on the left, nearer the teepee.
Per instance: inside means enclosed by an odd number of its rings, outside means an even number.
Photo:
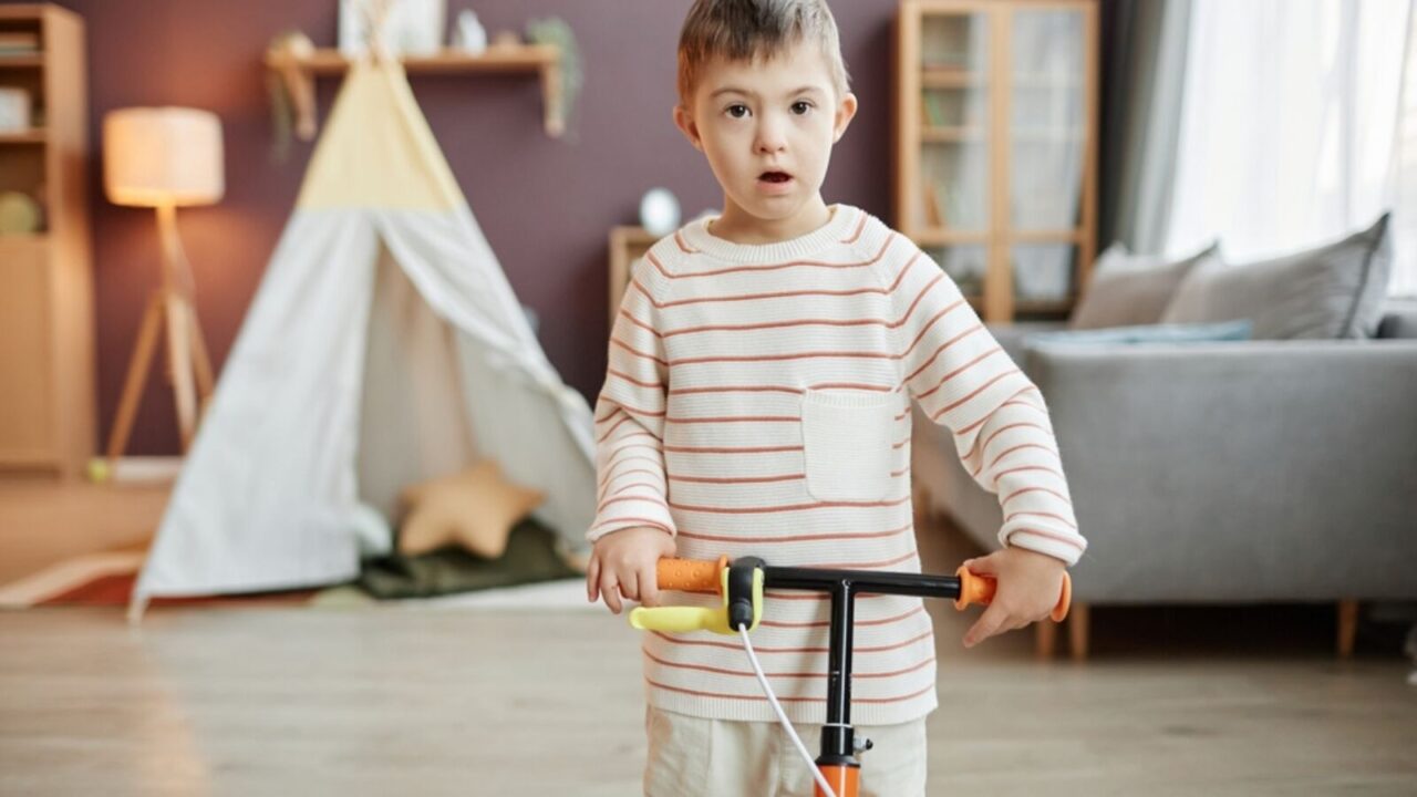
[[[595,403],[597,511],[585,535],[591,542],[632,526],[676,532],[663,455],[669,363],[643,265],[635,264],[615,316]]]

